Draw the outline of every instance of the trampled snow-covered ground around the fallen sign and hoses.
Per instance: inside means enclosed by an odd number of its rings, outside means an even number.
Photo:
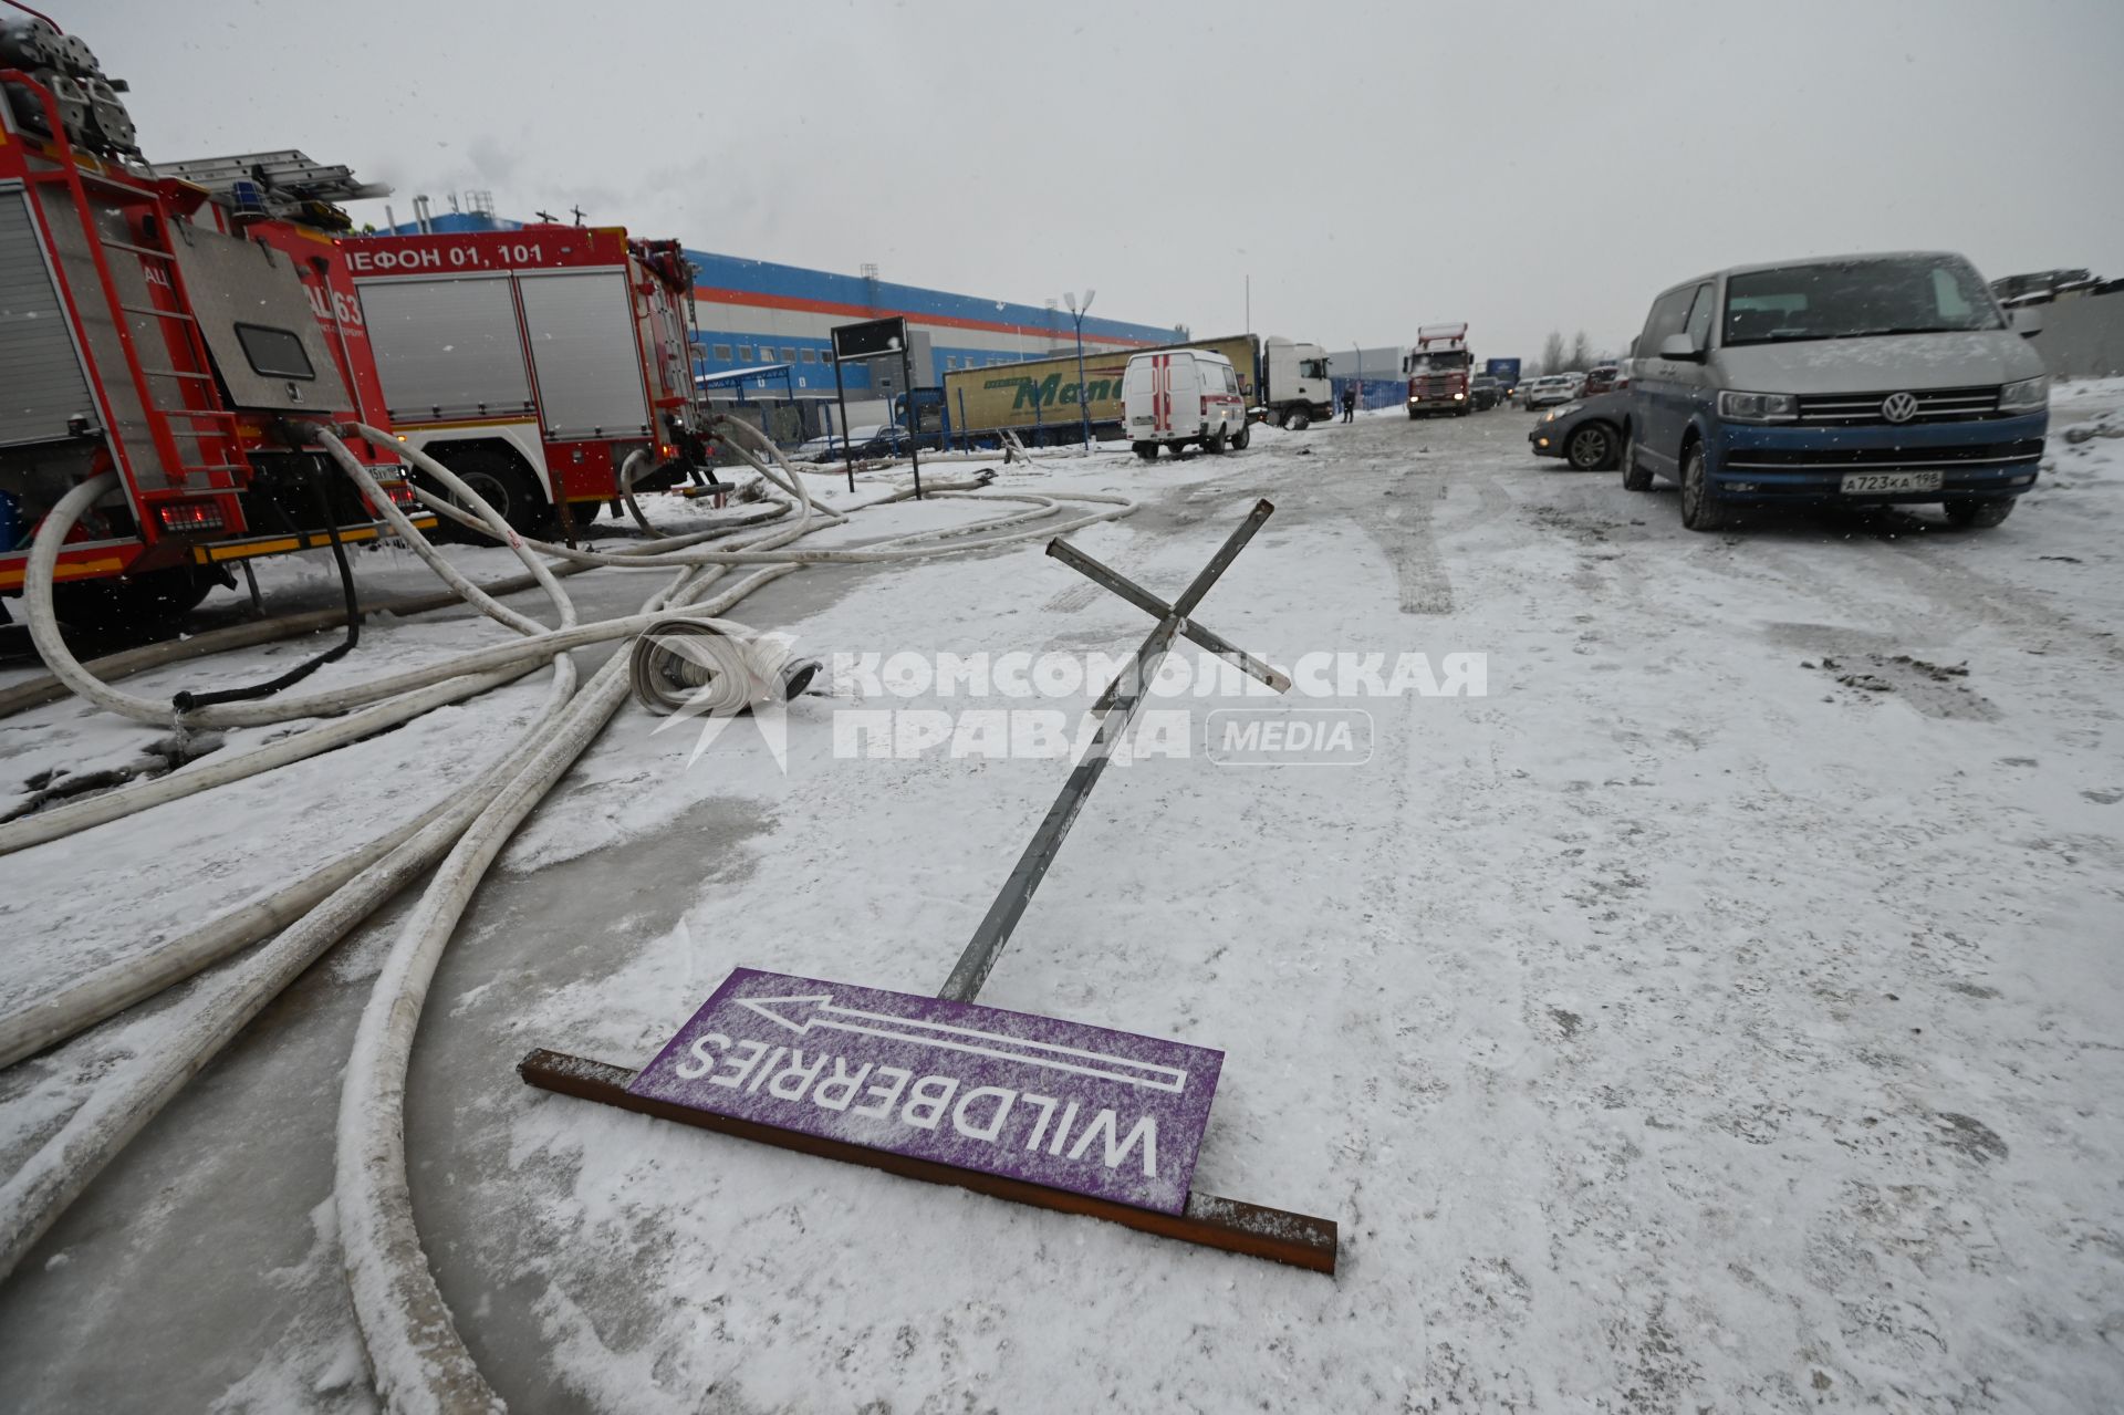
[[[981,994],[1221,1047],[1196,1188],[1338,1220],[1340,1273],[516,1079],[533,1045],[648,1060],[737,965],[937,990],[1066,763],[835,758],[835,714],[1075,714],[1098,684],[843,682],[792,708],[786,773],[746,727],[688,769],[692,731],[622,710],[446,954],[408,1152],[482,1370],[523,1411],[2111,1407],[2124,440],[2065,431],[2120,408],[2120,382],[2060,389],[2043,484],[1975,533],[1922,510],[1691,535],[1672,491],[1529,457],[1512,410],[1009,470],[1141,497],[1073,540],[1164,593],[1270,497],[1200,618],[1277,663],[1487,654],[1483,697],[1308,701],[1372,714],[1361,767],[1115,767]],[[877,508],[818,544],[966,514]],[[393,552],[363,578],[427,589]],[[336,597],[316,565],[268,582]],[[567,584],[584,616],[648,593]],[[1149,629],[1039,542],[805,569],[739,618],[818,654],[1126,652]],[[384,623],[319,686],[497,633]],[[423,809],[537,695],[0,858],[0,999]],[[0,720],[0,790],[153,737],[76,703]],[[374,1407],[331,1139],[389,937],[312,969],[0,1288],[4,1404]],[[0,1173],[183,1007],[0,1073]]]

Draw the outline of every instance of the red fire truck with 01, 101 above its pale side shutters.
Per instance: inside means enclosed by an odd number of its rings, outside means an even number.
[[[620,227],[357,236],[346,259],[391,429],[523,533],[707,461],[675,240]],[[418,474],[416,474],[418,476]]]

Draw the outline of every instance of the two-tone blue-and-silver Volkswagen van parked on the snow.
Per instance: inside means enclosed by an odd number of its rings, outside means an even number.
[[[2050,378],[1950,253],[1740,266],[1659,295],[1631,359],[1623,484],[1716,531],[1765,501],[1939,501],[1999,525],[2035,487]]]

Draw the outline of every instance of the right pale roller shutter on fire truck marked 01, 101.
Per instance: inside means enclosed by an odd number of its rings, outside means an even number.
[[[620,270],[518,272],[546,438],[648,438],[648,393]]]

